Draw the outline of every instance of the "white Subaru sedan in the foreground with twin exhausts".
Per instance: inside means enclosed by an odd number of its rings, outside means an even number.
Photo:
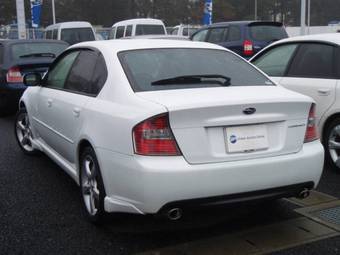
[[[81,43],[25,82],[19,145],[80,185],[91,221],[304,197],[320,180],[312,100],[217,45]]]

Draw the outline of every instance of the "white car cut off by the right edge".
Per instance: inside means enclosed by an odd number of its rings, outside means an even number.
[[[282,86],[317,103],[326,158],[340,171],[340,35],[294,37],[274,43],[251,62]]]

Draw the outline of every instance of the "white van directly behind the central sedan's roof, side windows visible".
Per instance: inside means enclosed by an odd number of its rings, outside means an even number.
[[[109,39],[138,35],[166,35],[163,21],[159,19],[129,19],[112,26]]]

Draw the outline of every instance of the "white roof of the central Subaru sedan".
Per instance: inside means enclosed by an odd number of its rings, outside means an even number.
[[[205,43],[205,42],[192,42],[184,40],[154,40],[154,39],[116,39],[106,41],[92,41],[82,42],[72,45],[73,48],[97,48],[101,51],[121,52],[127,50],[140,50],[140,49],[164,49],[164,48],[193,48],[193,49],[216,49],[229,51],[219,45]]]

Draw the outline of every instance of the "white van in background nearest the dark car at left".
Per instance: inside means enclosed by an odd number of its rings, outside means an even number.
[[[62,22],[45,29],[45,39],[62,40],[70,45],[85,41],[95,41],[95,33],[90,23],[84,21]]]

